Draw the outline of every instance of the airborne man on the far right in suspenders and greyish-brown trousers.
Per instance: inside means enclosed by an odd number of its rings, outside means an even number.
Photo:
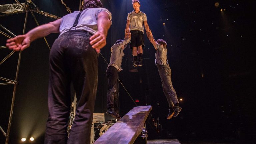
[[[155,64],[157,66],[162,81],[164,95],[166,96],[169,104],[169,113],[167,119],[171,119],[172,117],[176,117],[179,114],[179,112],[181,111],[181,107],[179,107],[177,94],[172,86],[172,72],[167,60],[167,43],[162,39],[158,39],[157,41],[155,41],[151,30],[147,32],[147,36],[149,38],[149,41],[153,44],[154,48],[156,49]]]

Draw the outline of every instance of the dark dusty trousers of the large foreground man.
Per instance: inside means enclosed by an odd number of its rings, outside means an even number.
[[[89,144],[98,82],[98,57],[91,34],[69,31],[57,38],[50,52],[49,116],[45,144]],[[77,96],[76,115],[67,142],[70,84]]]

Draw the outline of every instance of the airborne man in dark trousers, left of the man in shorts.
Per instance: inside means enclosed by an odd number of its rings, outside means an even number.
[[[111,47],[110,63],[108,65],[106,75],[108,78],[108,93],[107,93],[107,114],[116,119],[120,119],[119,115],[119,79],[118,72],[122,70],[123,50],[130,42],[131,34],[125,35],[124,40],[117,40]]]

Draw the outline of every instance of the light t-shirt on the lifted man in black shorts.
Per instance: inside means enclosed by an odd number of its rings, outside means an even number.
[[[144,33],[144,21],[147,21],[147,15],[140,11],[139,13],[135,13],[132,11],[128,13],[127,20],[130,20],[130,30],[139,30]]]

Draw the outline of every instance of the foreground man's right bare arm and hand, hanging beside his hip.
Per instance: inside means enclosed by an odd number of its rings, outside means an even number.
[[[106,37],[110,25],[111,20],[108,13],[104,11],[100,12],[97,20],[98,31],[90,37],[90,44],[98,53],[100,52],[100,49],[107,44]]]

